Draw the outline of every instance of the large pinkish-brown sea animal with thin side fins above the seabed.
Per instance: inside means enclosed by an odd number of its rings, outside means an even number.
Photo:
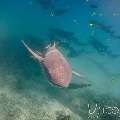
[[[32,56],[39,62],[42,63],[50,75],[51,83],[60,87],[69,87],[72,79],[72,74],[78,77],[83,77],[79,73],[72,70],[71,65],[65,59],[63,54],[56,48],[55,43],[47,46],[47,51],[43,55],[38,51],[33,51],[28,45],[22,40],[23,45],[32,54]]]

